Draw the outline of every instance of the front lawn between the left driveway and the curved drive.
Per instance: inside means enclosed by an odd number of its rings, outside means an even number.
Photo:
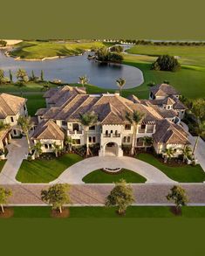
[[[22,183],[49,183],[72,164],[83,158],[76,154],[65,154],[51,160],[24,160],[17,172],[17,181]]]

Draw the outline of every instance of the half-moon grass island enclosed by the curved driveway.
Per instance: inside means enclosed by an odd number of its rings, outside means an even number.
[[[106,173],[103,170],[94,170],[88,175],[84,176],[85,183],[115,183],[120,179],[125,179],[127,183],[145,183],[147,179],[140,176],[132,170],[123,169],[118,174]]]

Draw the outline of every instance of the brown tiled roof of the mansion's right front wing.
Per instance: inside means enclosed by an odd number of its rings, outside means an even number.
[[[154,142],[167,144],[188,144],[188,134],[181,126],[169,121],[158,121],[156,132],[153,135]]]

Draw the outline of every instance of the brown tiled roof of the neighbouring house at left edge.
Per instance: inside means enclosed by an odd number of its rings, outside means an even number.
[[[0,118],[16,115],[27,99],[7,93],[0,93]]]

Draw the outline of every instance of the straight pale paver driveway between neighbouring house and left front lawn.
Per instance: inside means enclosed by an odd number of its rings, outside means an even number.
[[[9,154],[7,155],[7,161],[3,166],[3,170],[0,172],[0,184],[17,183],[15,178],[17,171],[23,159],[25,159],[28,154],[28,144],[25,137],[11,140],[8,149]]]

